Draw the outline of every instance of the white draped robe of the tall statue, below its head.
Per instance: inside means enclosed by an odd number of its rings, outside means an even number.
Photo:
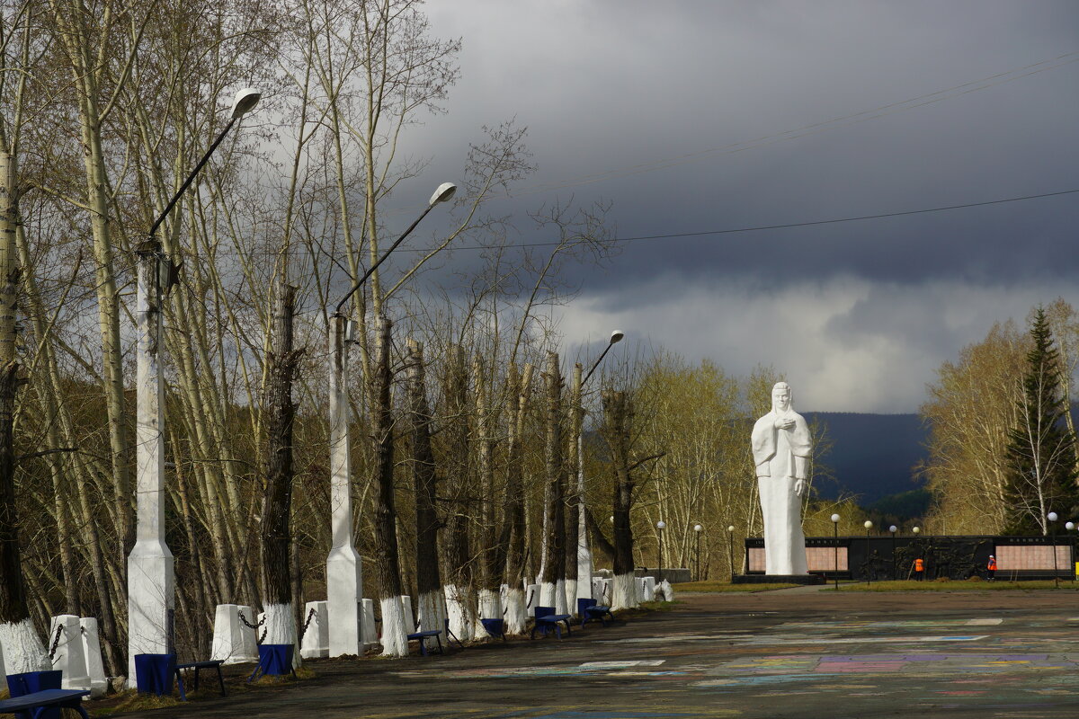
[[[776,420],[793,419],[790,429]],[[773,410],[753,425],[753,464],[764,517],[766,575],[806,575],[806,540],[802,534],[802,498],[794,494],[795,457],[808,457],[811,443],[805,418],[794,411]]]

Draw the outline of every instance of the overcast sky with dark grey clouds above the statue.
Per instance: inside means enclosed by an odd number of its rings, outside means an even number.
[[[460,168],[481,125],[516,117],[538,169],[498,211],[606,199],[617,235],[636,237],[1079,189],[1074,0],[427,12],[435,34],[463,39],[462,78],[410,152],[431,158],[429,184]],[[1079,304],[1077,221],[1070,194],[624,243],[604,271],[576,271],[561,330],[592,356],[617,327],[735,374],[773,364],[800,410],[914,412],[940,363],[995,320]]]

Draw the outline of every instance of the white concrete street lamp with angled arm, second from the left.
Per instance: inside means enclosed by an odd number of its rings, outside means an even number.
[[[364,273],[330,316],[330,553],[326,557],[326,612],[329,626],[329,655],[364,653],[364,572],[353,527],[352,459],[349,435],[349,350],[355,341],[353,322],[343,307],[379,265],[397,249],[432,208],[450,199],[457,186],[443,182],[435,190],[423,213],[409,225],[390,249]],[[371,641],[375,637],[369,637]]]

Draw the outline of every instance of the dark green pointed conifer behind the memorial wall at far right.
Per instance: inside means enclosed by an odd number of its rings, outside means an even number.
[[[1023,397],[1009,432],[1005,534],[1049,534],[1046,514],[1070,515],[1079,506],[1075,439],[1067,428],[1060,355],[1042,307],[1030,327]]]

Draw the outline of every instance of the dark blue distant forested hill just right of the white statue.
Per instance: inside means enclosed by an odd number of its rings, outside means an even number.
[[[923,486],[912,481],[912,468],[926,458],[927,431],[916,414],[855,414],[805,412],[807,420],[828,425],[832,451],[823,457],[834,482],[821,483],[818,494],[829,499],[860,495],[868,507],[883,497]]]

